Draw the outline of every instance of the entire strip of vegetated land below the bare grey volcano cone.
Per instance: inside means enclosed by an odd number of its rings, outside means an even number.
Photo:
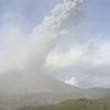
[[[65,103],[66,101],[68,103],[69,100],[73,103],[72,105],[72,105],[69,107],[72,107],[73,110],[74,108],[77,108],[75,110],[78,110],[78,108],[80,108],[80,110],[82,108],[86,108],[87,110],[92,110],[90,109],[91,103],[92,103],[91,106],[95,108],[97,108],[97,106],[99,108],[101,105],[100,108],[102,108],[102,110],[106,110],[107,108],[110,108],[109,94],[110,94],[110,89],[92,88],[92,89],[85,89],[77,92],[32,92],[32,94],[28,94],[28,95],[24,94],[19,96],[0,96],[0,110],[16,110],[22,107],[26,107],[23,108],[24,110],[33,110],[33,107],[35,108],[35,110],[41,110],[40,106],[43,106],[43,108],[45,108],[44,110],[46,110],[46,107],[47,109],[50,107],[51,108],[53,107],[52,110],[61,110],[58,109],[58,107],[66,108],[63,103]],[[82,102],[85,102],[85,105]],[[67,110],[70,110],[70,108]]]

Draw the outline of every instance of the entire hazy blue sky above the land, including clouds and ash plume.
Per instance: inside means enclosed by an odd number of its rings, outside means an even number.
[[[82,12],[73,2],[0,0],[0,73],[30,69],[78,87],[110,87],[110,1],[85,0]]]

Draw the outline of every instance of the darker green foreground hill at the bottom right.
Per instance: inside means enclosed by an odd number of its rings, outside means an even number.
[[[57,105],[24,107],[18,110],[110,110],[110,95],[100,99],[72,99]]]

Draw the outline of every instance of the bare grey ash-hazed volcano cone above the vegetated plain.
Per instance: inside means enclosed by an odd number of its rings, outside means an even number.
[[[51,76],[13,70],[0,76],[0,95],[22,95],[30,92],[74,92],[79,90]]]

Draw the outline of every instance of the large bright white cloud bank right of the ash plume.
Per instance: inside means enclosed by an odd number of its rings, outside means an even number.
[[[91,76],[109,74],[110,41],[90,40],[85,44],[74,44],[67,51],[61,48],[52,51],[47,58],[45,68],[50,73],[59,70],[81,72]],[[56,73],[56,74],[57,74]]]

